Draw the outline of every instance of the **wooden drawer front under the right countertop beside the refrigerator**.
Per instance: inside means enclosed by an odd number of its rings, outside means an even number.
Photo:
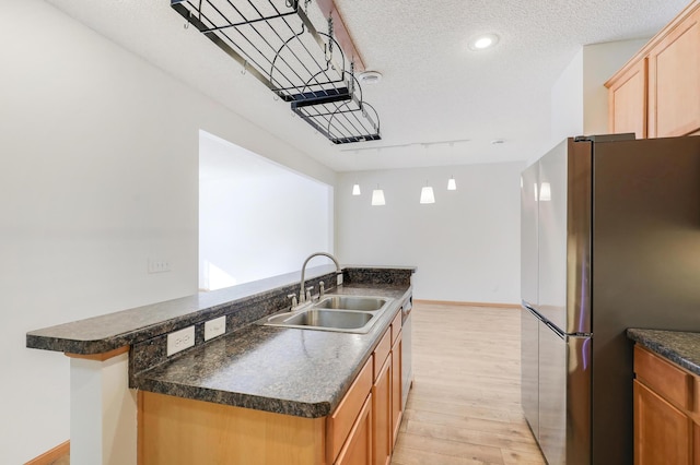
[[[634,346],[637,379],[677,406],[691,409],[693,378],[649,350]]]

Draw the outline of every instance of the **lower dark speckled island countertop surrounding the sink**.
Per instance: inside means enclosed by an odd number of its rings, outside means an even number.
[[[366,334],[253,324],[139,373],[133,386],[279,414],[327,416],[410,293],[406,285],[343,285],[334,294],[395,299]]]

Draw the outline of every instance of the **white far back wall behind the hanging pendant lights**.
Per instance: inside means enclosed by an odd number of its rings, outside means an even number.
[[[343,263],[416,265],[418,299],[520,302],[522,163],[340,174],[336,250]],[[454,176],[456,191],[447,191]],[[435,203],[419,203],[425,181]],[[362,195],[351,195],[360,183]],[[380,184],[385,206],[372,206]]]

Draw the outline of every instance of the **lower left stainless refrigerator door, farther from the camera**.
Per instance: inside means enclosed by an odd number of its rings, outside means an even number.
[[[532,310],[521,310],[521,403],[535,438],[539,436],[539,324]]]

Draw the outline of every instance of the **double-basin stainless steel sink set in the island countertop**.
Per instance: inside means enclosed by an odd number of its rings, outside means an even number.
[[[366,333],[394,299],[368,296],[328,295],[317,302],[267,317],[267,326]]]

